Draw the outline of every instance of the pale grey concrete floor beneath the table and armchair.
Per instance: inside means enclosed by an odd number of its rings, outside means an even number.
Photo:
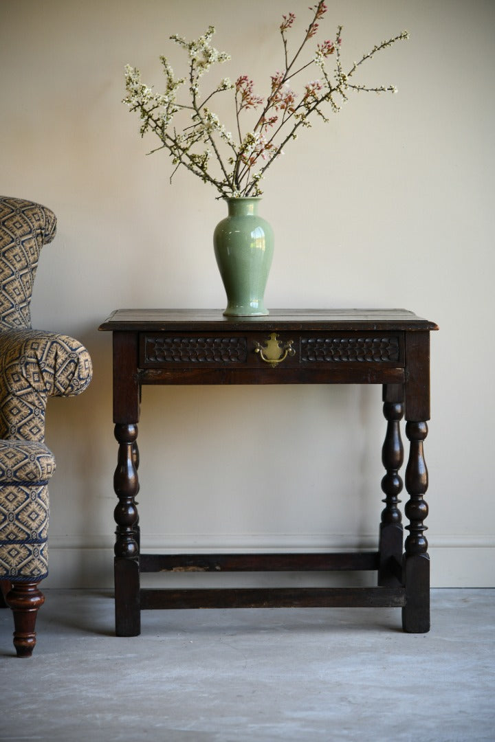
[[[31,660],[0,611],[0,740],[495,740],[494,590],[432,591],[429,634],[394,608],[143,611],[47,590]]]

